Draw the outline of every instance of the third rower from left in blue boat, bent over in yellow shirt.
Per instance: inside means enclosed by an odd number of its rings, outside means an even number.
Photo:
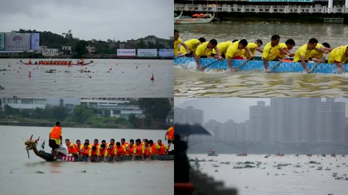
[[[218,55],[217,58],[219,60],[222,60],[220,50],[217,48],[217,41],[215,39],[212,39],[209,42],[204,42],[197,47],[196,52],[193,54],[193,56],[196,60],[198,70],[202,70],[202,67],[199,63],[199,58],[208,56],[210,57],[212,55],[213,49],[216,50],[216,54]]]

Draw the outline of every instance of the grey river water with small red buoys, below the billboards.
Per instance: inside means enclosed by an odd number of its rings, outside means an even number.
[[[19,60],[0,59],[0,69],[6,69],[0,72],[0,85],[5,88],[0,91],[2,97],[169,98],[173,95],[172,60],[92,59],[92,64],[70,68],[24,65]],[[55,71],[46,73],[50,69]],[[30,71],[32,76],[28,77]]]

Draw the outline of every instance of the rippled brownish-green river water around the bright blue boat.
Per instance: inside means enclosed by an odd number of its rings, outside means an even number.
[[[294,39],[295,52],[312,37],[320,43],[328,42],[331,47],[348,44],[348,26],[334,24],[236,24],[221,22],[211,24],[175,25],[180,38],[185,41],[199,37],[218,42],[247,39],[254,42],[261,39],[262,48],[273,34],[280,36],[280,42]],[[256,56],[261,53],[255,52]],[[348,74],[265,74],[262,71],[208,71],[197,72],[195,64],[174,68],[175,96],[195,97],[286,97],[286,96],[348,96]]]

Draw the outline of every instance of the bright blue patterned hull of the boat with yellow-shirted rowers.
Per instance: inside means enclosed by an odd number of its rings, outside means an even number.
[[[206,70],[209,69],[220,69],[220,70],[228,70],[228,64],[227,60],[223,59],[221,61],[217,61],[215,58],[200,58],[199,59],[200,66],[205,67]],[[245,60],[242,59],[233,59],[233,68],[239,67],[242,63],[244,63]],[[174,64],[176,66],[188,66],[190,63],[194,63],[196,66],[196,61],[193,57],[177,57],[174,58]],[[301,62],[288,62],[288,61],[282,61],[279,63],[279,61],[268,61],[268,68],[269,70],[272,70],[273,67],[275,67],[272,72],[274,73],[301,73],[305,72],[304,68],[302,67]],[[314,67],[315,66],[315,67]],[[340,73],[340,70],[337,68],[336,64],[334,63],[307,63],[307,67],[309,70],[312,70],[312,73],[326,73],[326,74],[338,74]],[[344,72],[348,72],[348,64],[342,64],[342,69]],[[264,62],[262,60],[250,60],[247,61],[238,71],[248,71],[248,70],[265,70]]]

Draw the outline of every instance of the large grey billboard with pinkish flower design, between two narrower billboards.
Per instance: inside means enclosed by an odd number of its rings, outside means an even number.
[[[5,33],[5,50],[7,51],[20,51],[30,50],[30,33],[16,33],[6,32]]]

